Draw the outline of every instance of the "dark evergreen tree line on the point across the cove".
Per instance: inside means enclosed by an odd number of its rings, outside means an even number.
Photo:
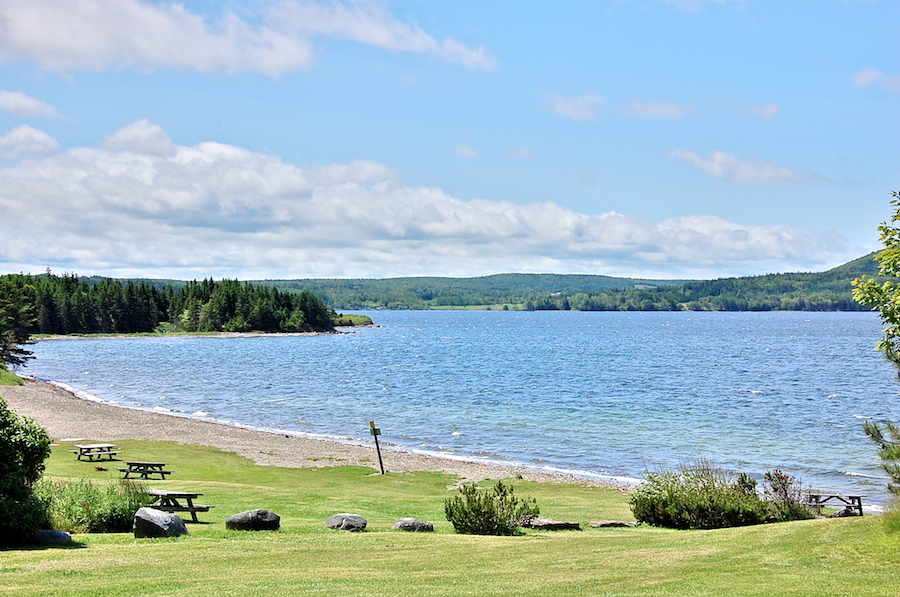
[[[110,278],[91,282],[74,274],[7,274],[0,276],[0,296],[29,334],[321,332],[335,324],[336,314],[308,290],[211,278],[178,288]]]

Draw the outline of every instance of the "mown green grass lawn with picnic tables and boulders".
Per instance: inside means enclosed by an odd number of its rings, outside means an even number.
[[[175,471],[148,487],[199,491],[215,509],[175,539],[76,535],[73,547],[0,551],[0,595],[900,594],[900,533],[877,516],[716,531],[591,529],[591,520],[631,520],[627,495],[511,479],[543,516],[578,520],[585,530],[465,536],[443,516],[451,476],[281,469],[204,447],[119,445],[124,459]],[[69,448],[54,448],[48,475],[120,476],[119,462],[79,462]],[[282,529],[225,530],[230,514],[253,508],[279,514]],[[327,529],[325,518],[337,512],[361,514],[368,529]],[[404,516],[433,522],[436,532],[391,530]]]

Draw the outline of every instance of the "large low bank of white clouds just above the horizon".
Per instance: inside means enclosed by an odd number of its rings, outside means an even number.
[[[156,129],[142,121],[108,139],[142,138],[134,131]],[[848,257],[840,237],[796,228],[458,199],[404,185],[377,162],[304,169],[220,143],[175,145],[167,154],[141,143],[111,146],[0,169],[0,268],[182,279],[508,271],[711,277]]]

